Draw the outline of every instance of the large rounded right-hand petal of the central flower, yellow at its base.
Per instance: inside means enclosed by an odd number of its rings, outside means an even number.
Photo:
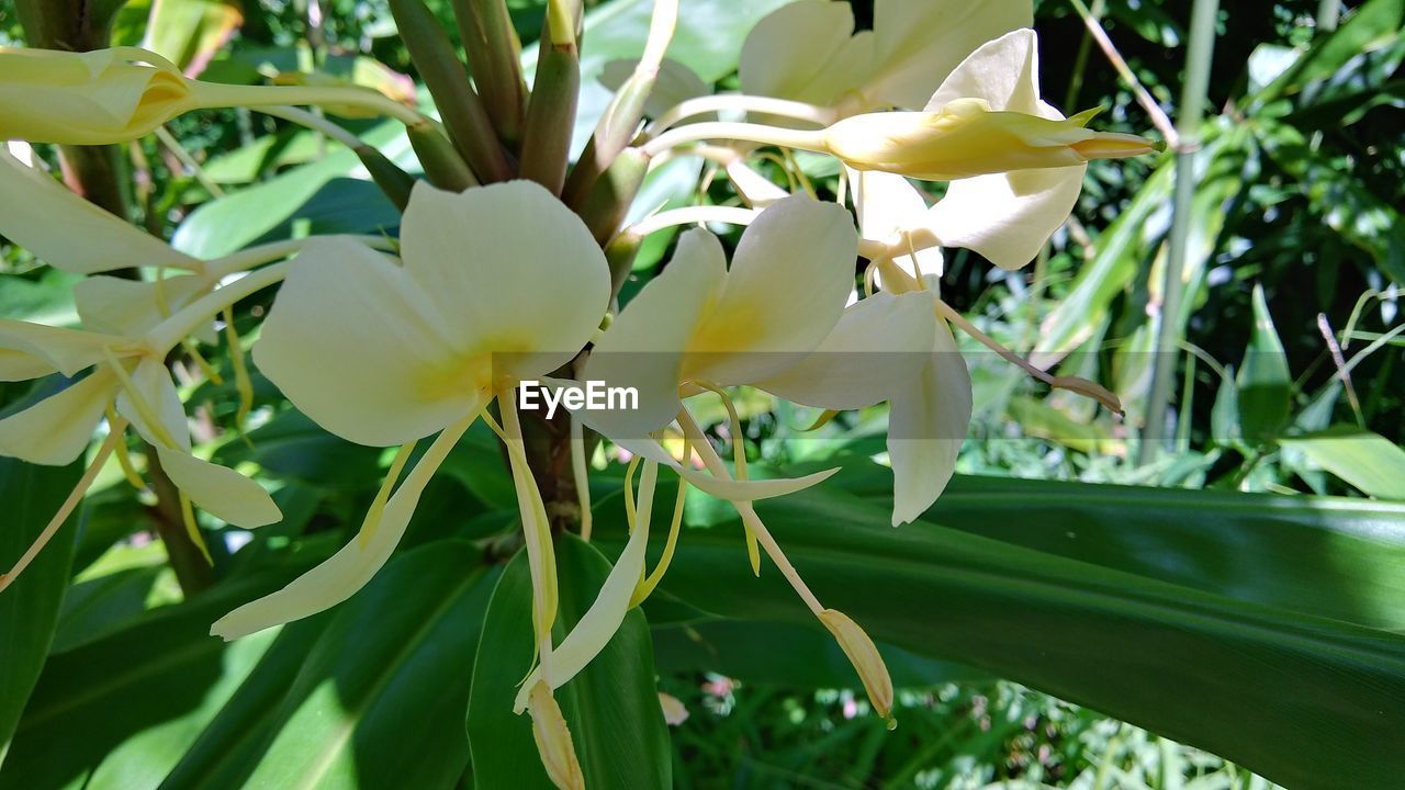
[[[414,186],[405,270],[461,351],[535,378],[570,361],[610,302],[610,268],[580,218],[532,181],[462,194]]]

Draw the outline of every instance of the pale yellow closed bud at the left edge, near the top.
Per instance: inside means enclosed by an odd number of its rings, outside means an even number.
[[[0,49],[0,139],[129,141],[194,105],[180,70],[145,49]]]

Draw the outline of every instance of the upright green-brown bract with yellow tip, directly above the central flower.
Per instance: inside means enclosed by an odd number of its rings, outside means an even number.
[[[521,174],[561,194],[570,157],[580,94],[580,53],[573,30],[558,31],[548,17],[547,37],[537,63],[527,122],[523,127]]]

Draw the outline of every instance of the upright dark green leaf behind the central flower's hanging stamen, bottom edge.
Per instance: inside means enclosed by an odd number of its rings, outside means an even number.
[[[586,613],[610,575],[593,545],[566,534],[556,541],[561,609],[556,641]],[[517,685],[532,662],[531,575],[518,552],[503,571],[483,624],[468,704],[473,786],[482,790],[551,790],[532,741],[531,720],[513,714]],[[590,790],[670,787],[672,753],[653,682],[653,648],[635,609],[579,675],[556,690]]]

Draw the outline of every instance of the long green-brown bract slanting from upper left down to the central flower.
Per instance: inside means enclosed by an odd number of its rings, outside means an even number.
[[[438,20],[423,0],[391,0],[391,14],[395,15],[410,60],[434,96],[444,125],[473,173],[485,183],[511,179],[511,166],[497,143],[488,111],[469,84],[468,73]]]

